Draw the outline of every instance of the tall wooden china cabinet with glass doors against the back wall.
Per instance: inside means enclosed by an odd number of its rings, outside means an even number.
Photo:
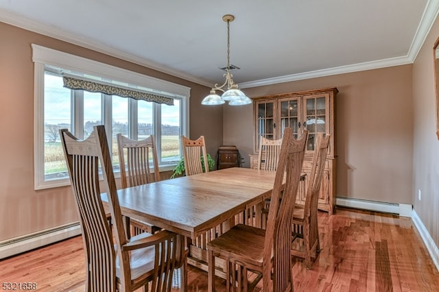
[[[285,127],[291,127],[294,135],[300,136],[304,129],[308,130],[308,141],[303,172],[309,174],[316,147],[316,134],[331,134],[324,178],[320,186],[320,210],[330,214],[335,208],[335,96],[337,88],[307,90],[295,93],[267,95],[254,99],[254,154],[250,154],[250,168],[257,168],[259,140],[261,136],[278,139],[283,135]],[[298,202],[305,204],[307,180],[300,186]]]

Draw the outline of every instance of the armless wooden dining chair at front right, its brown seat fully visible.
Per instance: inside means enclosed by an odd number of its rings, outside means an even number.
[[[267,229],[237,224],[207,243],[210,292],[215,291],[215,257],[226,262],[228,291],[252,291],[261,279],[263,291],[293,291],[292,218],[306,141],[307,130],[296,140],[292,130],[285,128]]]

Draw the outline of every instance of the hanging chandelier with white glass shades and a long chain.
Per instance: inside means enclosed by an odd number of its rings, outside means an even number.
[[[227,23],[227,66],[226,73],[224,73],[226,82],[222,86],[215,84],[211,89],[211,93],[201,101],[201,104],[205,106],[216,106],[217,104],[224,104],[226,101],[230,106],[244,106],[252,103],[252,100],[239,90],[238,84],[233,82],[233,75],[230,73],[230,22],[234,19],[235,16],[230,14],[222,16],[222,20]],[[227,90],[223,89],[225,86],[227,86]],[[223,94],[221,96],[217,95],[216,90],[221,90]]]

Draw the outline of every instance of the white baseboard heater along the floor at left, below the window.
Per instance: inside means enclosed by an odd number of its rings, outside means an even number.
[[[15,239],[8,239],[0,242],[0,259],[21,254],[35,248],[62,241],[73,236],[81,234],[81,226],[79,222],[51,228],[33,234],[27,234]]]

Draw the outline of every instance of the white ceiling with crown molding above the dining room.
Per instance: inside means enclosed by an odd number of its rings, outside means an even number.
[[[215,2],[216,5],[213,3]],[[212,86],[410,64],[439,0],[0,0],[0,21]],[[3,40],[1,40],[3,42]]]

